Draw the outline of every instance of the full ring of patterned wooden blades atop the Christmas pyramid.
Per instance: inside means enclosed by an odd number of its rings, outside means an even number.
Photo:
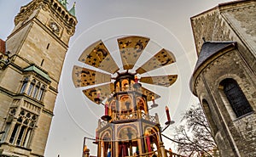
[[[137,60],[146,48],[149,38],[143,36],[125,36],[117,39],[119,45],[119,53],[122,59],[123,69],[127,70],[127,76],[136,75],[131,74],[131,70],[137,63]],[[104,43],[100,40],[91,44],[79,57],[79,61],[93,66],[97,69],[104,70],[113,75],[117,74],[117,77],[122,77],[119,72],[119,66],[114,61],[111,54]],[[148,59],[141,67],[136,71],[137,74],[143,74],[150,70],[155,70],[168,64],[174,63],[176,60],[172,52],[166,49],[161,49],[151,59]],[[120,65],[122,66],[122,65]],[[84,95],[96,104],[101,104],[105,98],[110,97],[114,93],[114,85],[111,82],[111,75],[98,72],[96,70],[90,70],[77,65],[73,66],[73,84],[75,87],[87,87],[83,90]],[[148,83],[152,85],[170,87],[177,80],[177,75],[166,76],[143,76],[139,79],[140,82]],[[138,81],[138,80],[137,80]],[[138,83],[139,84],[139,83]],[[145,87],[136,88],[137,92],[142,93],[147,97],[147,101],[160,98],[160,95],[148,90]]]

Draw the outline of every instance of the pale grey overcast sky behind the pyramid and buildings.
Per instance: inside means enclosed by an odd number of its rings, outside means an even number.
[[[20,6],[29,0],[0,0],[0,38],[6,40],[14,28],[15,15]],[[67,1],[67,8],[72,8],[73,0]],[[177,74],[178,79],[172,87],[146,86],[158,93],[160,106],[150,110],[150,114],[158,113],[160,123],[166,121],[165,106],[170,109],[176,125],[185,109],[195,104],[197,99],[189,90],[189,79],[196,62],[195,44],[189,18],[213,8],[226,0],[140,0],[140,1],[97,1],[77,0],[76,17],[78,25],[71,38],[63,66],[59,94],[55,104],[55,116],[49,132],[45,150],[46,157],[76,157],[82,154],[84,137],[94,137],[97,121],[104,113],[102,106],[93,104],[82,94],[81,88],[75,88],[72,82],[73,65],[86,66],[79,63],[80,54],[92,42],[100,39],[106,44],[114,59],[120,64],[116,39],[119,36],[138,35],[150,38],[148,47],[137,67],[143,64],[160,48],[174,53],[177,62],[166,68],[147,73],[148,76]],[[171,126],[164,134],[172,135]],[[166,149],[173,147],[164,140]],[[86,141],[90,154],[96,155],[96,145]],[[175,148],[172,148],[175,149]]]

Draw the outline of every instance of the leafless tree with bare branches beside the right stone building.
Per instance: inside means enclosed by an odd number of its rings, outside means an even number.
[[[177,142],[177,151],[180,154],[191,157],[216,156],[217,145],[200,104],[186,110],[181,125],[175,129],[174,141]]]

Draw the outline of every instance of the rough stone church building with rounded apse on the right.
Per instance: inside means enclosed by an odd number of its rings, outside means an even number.
[[[198,60],[190,81],[222,156],[256,156],[256,1],[192,17]]]

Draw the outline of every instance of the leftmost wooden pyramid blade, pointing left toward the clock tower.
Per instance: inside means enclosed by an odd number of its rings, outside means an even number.
[[[75,87],[86,87],[111,81],[111,75],[73,66],[73,84]]]

